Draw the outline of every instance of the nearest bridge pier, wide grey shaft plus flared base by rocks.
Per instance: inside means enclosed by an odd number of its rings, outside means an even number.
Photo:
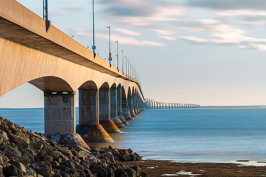
[[[88,147],[75,124],[75,92],[44,92],[44,136],[59,144]]]

